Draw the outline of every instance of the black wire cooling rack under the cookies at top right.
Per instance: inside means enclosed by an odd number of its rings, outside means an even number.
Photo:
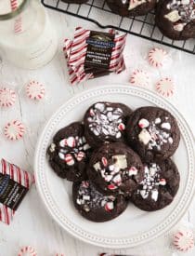
[[[163,36],[154,24],[154,13],[134,18],[122,18],[110,11],[105,0],[90,0],[83,5],[66,4],[61,0],[41,0],[45,7],[70,14],[84,20],[97,24],[98,27],[106,29],[113,28],[124,33],[149,39],[168,47],[195,54],[195,39],[187,41],[174,41]]]

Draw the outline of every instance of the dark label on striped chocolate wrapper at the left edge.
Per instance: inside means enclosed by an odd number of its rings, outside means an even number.
[[[28,188],[13,181],[9,175],[0,173],[0,202],[10,209],[18,209]]]

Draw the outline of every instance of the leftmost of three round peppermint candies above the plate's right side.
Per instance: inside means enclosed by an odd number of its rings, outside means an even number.
[[[147,72],[136,69],[130,77],[130,83],[138,87],[148,87],[150,84],[150,76]]]

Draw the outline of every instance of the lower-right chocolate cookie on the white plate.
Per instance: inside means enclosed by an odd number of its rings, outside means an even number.
[[[143,210],[157,210],[168,206],[176,195],[180,176],[171,159],[145,166],[144,181],[132,195],[132,202]]]

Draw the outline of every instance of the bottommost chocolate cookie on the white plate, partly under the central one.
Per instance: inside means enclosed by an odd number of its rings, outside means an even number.
[[[92,222],[107,222],[118,217],[127,207],[123,195],[102,195],[89,181],[74,182],[73,203],[79,213]]]

